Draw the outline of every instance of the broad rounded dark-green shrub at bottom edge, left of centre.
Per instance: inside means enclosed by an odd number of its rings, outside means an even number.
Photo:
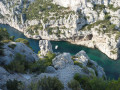
[[[56,77],[44,77],[37,83],[32,83],[31,90],[62,90],[63,84]]]

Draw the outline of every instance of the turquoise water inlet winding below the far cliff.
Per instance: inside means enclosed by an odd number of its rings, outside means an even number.
[[[38,40],[26,38],[21,32],[10,27],[9,25],[0,24],[0,27],[6,28],[10,36],[15,36],[15,39],[17,38],[27,39],[30,42],[30,46],[33,48],[33,50],[36,53],[40,50]],[[80,50],[84,50],[88,54],[90,59],[96,61],[100,66],[104,68],[104,71],[108,78],[117,79],[120,76],[120,60],[113,61],[112,59],[108,58],[105,54],[103,54],[97,49],[91,49],[84,46],[74,45],[64,41],[61,42],[51,41],[51,43],[54,52],[61,52],[61,53],[70,52],[72,55],[74,55]],[[57,50],[55,50],[56,45],[58,45]]]

